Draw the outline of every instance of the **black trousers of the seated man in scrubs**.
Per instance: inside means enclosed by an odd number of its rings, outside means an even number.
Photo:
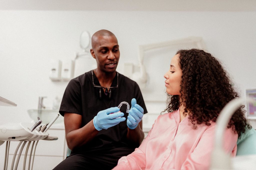
[[[113,169],[117,165],[118,159],[112,154],[71,154],[59,163],[54,170]]]

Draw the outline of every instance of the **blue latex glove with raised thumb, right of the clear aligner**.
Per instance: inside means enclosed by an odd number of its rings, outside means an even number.
[[[135,129],[138,126],[138,123],[142,120],[144,109],[136,104],[137,101],[135,98],[132,99],[132,107],[129,111],[129,115],[127,117],[127,126],[130,129]]]

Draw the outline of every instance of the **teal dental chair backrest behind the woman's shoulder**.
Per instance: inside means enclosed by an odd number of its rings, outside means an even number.
[[[256,130],[246,128],[237,140],[237,155],[256,154]]]

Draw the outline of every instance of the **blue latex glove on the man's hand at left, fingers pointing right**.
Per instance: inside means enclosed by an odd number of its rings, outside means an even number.
[[[108,129],[112,126],[119,124],[120,122],[125,121],[125,117],[122,117],[124,113],[118,112],[119,110],[120,109],[118,107],[112,107],[106,110],[99,111],[97,116],[93,118],[93,125],[95,129],[99,131],[102,129]],[[117,113],[114,113],[114,112],[117,112]],[[110,113],[113,113],[113,114],[110,114]]]

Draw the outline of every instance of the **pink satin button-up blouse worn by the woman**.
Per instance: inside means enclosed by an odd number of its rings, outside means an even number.
[[[141,146],[119,159],[114,170],[124,169],[209,169],[216,123],[197,125],[194,129],[179,110],[159,115]],[[238,135],[227,128],[224,148],[236,155]]]

